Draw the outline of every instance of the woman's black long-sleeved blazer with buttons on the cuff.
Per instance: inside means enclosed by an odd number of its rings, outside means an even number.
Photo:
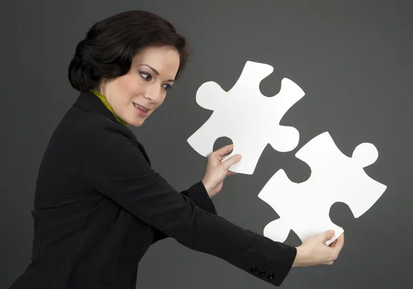
[[[11,289],[136,288],[140,259],[165,237],[275,286],[297,253],[217,215],[202,182],[173,189],[91,92],[78,96],[52,134],[32,216],[32,262]]]

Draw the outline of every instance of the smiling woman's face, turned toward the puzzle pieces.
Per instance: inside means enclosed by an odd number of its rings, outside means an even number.
[[[100,87],[115,114],[140,127],[165,100],[180,63],[173,47],[149,47],[134,57],[129,72],[106,80]]]

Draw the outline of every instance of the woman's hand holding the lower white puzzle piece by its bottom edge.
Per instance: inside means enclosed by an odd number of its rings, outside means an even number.
[[[306,242],[297,247],[293,267],[331,265],[339,257],[344,245],[343,233],[330,246],[327,246],[326,242],[334,235],[334,231],[330,230],[306,239]]]

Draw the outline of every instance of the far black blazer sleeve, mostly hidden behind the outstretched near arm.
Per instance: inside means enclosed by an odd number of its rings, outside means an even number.
[[[189,189],[182,191],[180,193],[189,197],[195,203],[195,205],[199,206],[200,208],[203,208],[205,211],[217,215],[215,206],[211,198],[209,197],[207,189],[205,189],[205,186],[202,183],[202,181],[197,182]],[[155,244],[156,242],[167,237],[168,236],[162,233],[162,231],[156,229],[155,234],[153,235],[152,244]]]

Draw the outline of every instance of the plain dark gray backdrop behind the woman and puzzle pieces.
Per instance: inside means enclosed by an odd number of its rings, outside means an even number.
[[[162,107],[133,128],[155,169],[176,189],[198,182],[205,159],[186,140],[211,111],[195,103],[196,89],[206,81],[231,89],[247,60],[273,65],[262,94],[277,94],[284,77],[306,92],[281,122],[299,130],[299,145],[289,153],[268,145],[253,175],[228,178],[213,198],[218,213],[262,233],[277,214],[257,193],[281,168],[294,182],[309,177],[308,165],[294,156],[308,140],[329,131],[347,156],[372,142],[379,159],[366,172],[388,189],[359,219],[346,204],[333,205],[333,222],[346,230],[339,259],[333,266],[295,268],[282,287],[413,287],[412,1],[20,0],[1,6],[0,288],[30,263],[37,169],[78,96],[66,76],[75,45],[96,21],[132,9],[167,18],[193,49]],[[230,142],[220,138],[214,148]],[[299,244],[294,233],[286,242]],[[149,248],[138,287],[273,288],[173,239]]]

